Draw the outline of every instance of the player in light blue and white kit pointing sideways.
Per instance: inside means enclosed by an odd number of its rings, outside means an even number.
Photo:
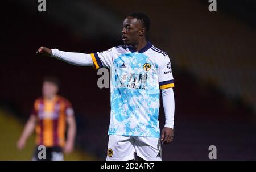
[[[173,139],[174,80],[168,55],[146,39],[150,19],[135,12],[123,22],[125,45],[92,54],[40,47],[38,54],[75,65],[111,70],[111,118],[106,160],[162,160],[161,145]],[[159,131],[159,87],[166,124]],[[160,137],[160,139],[159,139]]]

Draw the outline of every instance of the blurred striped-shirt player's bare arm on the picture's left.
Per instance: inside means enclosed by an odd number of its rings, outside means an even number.
[[[18,149],[23,149],[24,146],[26,145],[27,138],[31,135],[31,133],[35,129],[35,124],[36,124],[36,116],[35,115],[30,115],[30,118],[28,119],[25,128],[22,132],[22,135],[20,136],[19,141],[17,142],[17,147]]]

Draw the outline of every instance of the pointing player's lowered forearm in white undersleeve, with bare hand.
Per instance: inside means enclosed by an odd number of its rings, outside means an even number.
[[[174,91],[172,88],[162,90],[166,124],[161,133],[162,144],[169,144],[174,137]]]

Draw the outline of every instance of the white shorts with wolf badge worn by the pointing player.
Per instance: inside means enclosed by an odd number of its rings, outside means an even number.
[[[146,161],[162,161],[159,138],[109,135],[107,161],[134,160],[134,153]]]

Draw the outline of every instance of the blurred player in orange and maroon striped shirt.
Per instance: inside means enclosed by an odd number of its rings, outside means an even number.
[[[39,145],[46,146],[45,160],[64,160],[65,153],[71,153],[76,135],[76,122],[71,103],[57,95],[59,81],[55,77],[43,80],[42,95],[35,100],[30,118],[17,143],[23,149],[26,140],[36,128],[36,150],[32,160],[39,160]],[[66,122],[68,124],[65,140]]]

